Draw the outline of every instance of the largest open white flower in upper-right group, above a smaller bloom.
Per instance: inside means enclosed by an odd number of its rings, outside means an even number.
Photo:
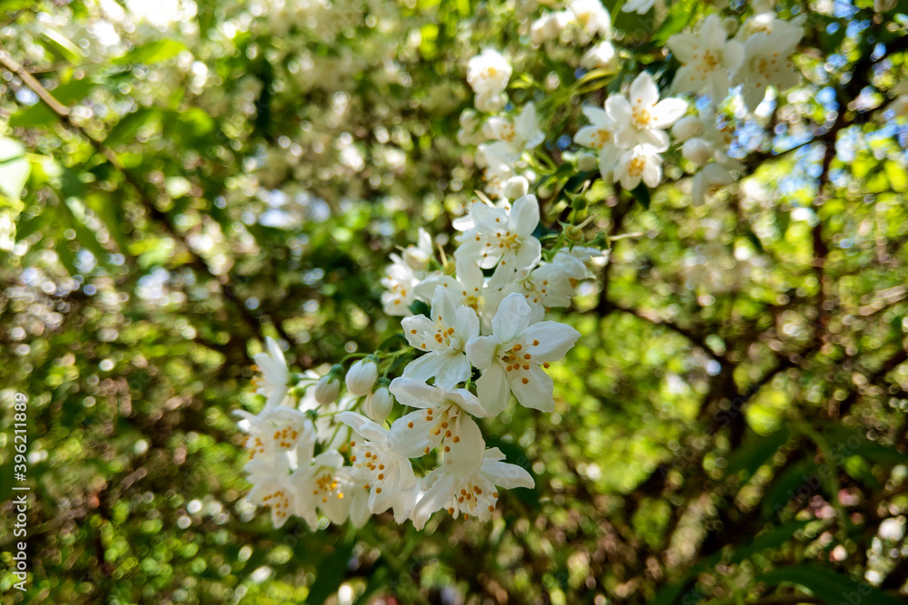
[[[658,151],[668,148],[665,129],[687,110],[681,99],[659,101],[659,88],[653,76],[643,72],[630,84],[630,101],[620,94],[610,94],[606,112],[617,127],[615,141],[625,149],[637,144],[649,144]]]

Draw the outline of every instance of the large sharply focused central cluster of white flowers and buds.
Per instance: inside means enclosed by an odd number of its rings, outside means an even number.
[[[256,392],[267,403],[259,415],[239,414],[249,498],[271,510],[275,526],[296,515],[314,530],[319,512],[361,525],[389,509],[418,529],[439,510],[486,520],[499,488],[534,485],[526,469],[486,447],[476,419],[499,415],[511,394],[519,405],[554,410],[545,370],[579,333],[545,315],[568,306],[587,261],[600,254],[557,249],[543,261],[538,222],[535,196],[504,208],[476,201],[457,222],[453,266],[434,258],[424,230],[417,245],[392,254],[383,301],[390,315],[405,316],[408,346],[399,351],[364,356],[346,372],[339,364],[324,376],[298,375],[267,340],[255,358]],[[424,313],[413,310],[419,305]],[[390,380],[394,361],[407,357]],[[395,400],[414,411],[389,422]],[[438,464],[419,476],[416,459],[419,468]]]

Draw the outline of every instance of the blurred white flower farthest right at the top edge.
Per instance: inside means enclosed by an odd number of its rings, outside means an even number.
[[[763,101],[768,86],[785,90],[800,82],[790,56],[803,32],[795,24],[780,21],[768,34],[757,32],[744,44],[744,63],[735,72],[734,83],[742,84],[741,95],[750,111]]]

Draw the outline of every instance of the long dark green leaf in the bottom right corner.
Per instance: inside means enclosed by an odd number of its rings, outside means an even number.
[[[810,590],[814,597],[827,603],[903,604],[902,600],[875,589],[870,584],[854,581],[844,574],[814,564],[781,567],[763,574],[758,580],[770,586],[795,584]]]

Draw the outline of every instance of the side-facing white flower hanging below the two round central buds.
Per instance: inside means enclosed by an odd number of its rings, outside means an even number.
[[[378,514],[389,508],[394,520],[403,522],[410,516],[419,483],[413,473],[410,458],[423,455],[425,445],[410,441],[416,450],[401,450],[397,435],[403,433],[406,423],[400,420],[386,429],[354,412],[343,412],[338,420],[350,426],[360,438],[350,442],[351,476],[354,490],[368,490],[369,512]],[[409,422],[409,421],[408,421]],[[427,439],[425,444],[429,444]]]

